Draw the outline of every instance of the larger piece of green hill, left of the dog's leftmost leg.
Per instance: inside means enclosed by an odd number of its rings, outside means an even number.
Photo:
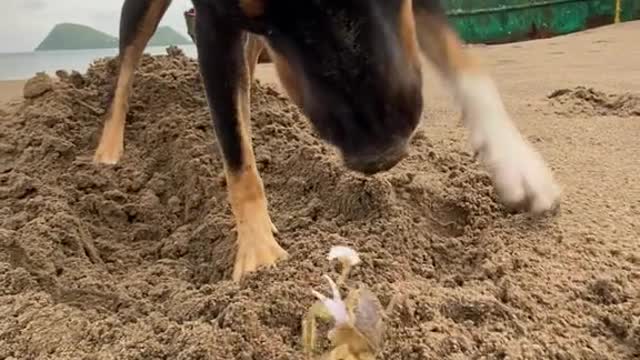
[[[58,24],[36,47],[43,50],[108,49],[118,47],[118,39],[79,24]]]

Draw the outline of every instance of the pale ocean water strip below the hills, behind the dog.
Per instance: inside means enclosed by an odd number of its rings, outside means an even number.
[[[197,58],[195,45],[181,45],[179,48],[187,56]],[[147,47],[145,53],[166,54],[166,47]],[[85,72],[95,59],[117,55],[118,49],[0,53],[0,80],[28,79],[39,71],[50,75],[55,75],[57,70]]]

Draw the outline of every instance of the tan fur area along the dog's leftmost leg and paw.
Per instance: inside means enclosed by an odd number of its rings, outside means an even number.
[[[120,54],[120,71],[116,90],[94,154],[95,163],[116,164],[124,150],[124,128],[129,109],[133,78],[144,48],[153,36],[168,2],[154,1],[142,21],[133,43]]]

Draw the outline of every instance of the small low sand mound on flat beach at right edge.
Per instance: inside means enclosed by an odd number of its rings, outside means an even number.
[[[613,95],[578,86],[556,90],[548,98],[561,115],[640,116],[640,96],[634,94]]]

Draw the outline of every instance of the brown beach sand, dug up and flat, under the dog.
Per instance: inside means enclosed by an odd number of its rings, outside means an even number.
[[[370,178],[257,83],[258,165],[291,256],[240,285],[193,60],[143,59],[115,167],[90,161],[113,61],[5,107],[0,359],[301,359],[310,288],[326,292],[321,276],[338,271],[333,245],[360,252],[353,282],[399,299],[380,358],[637,358],[639,32],[473,48],[564,187],[542,219],[496,201],[431,72],[409,158]]]

